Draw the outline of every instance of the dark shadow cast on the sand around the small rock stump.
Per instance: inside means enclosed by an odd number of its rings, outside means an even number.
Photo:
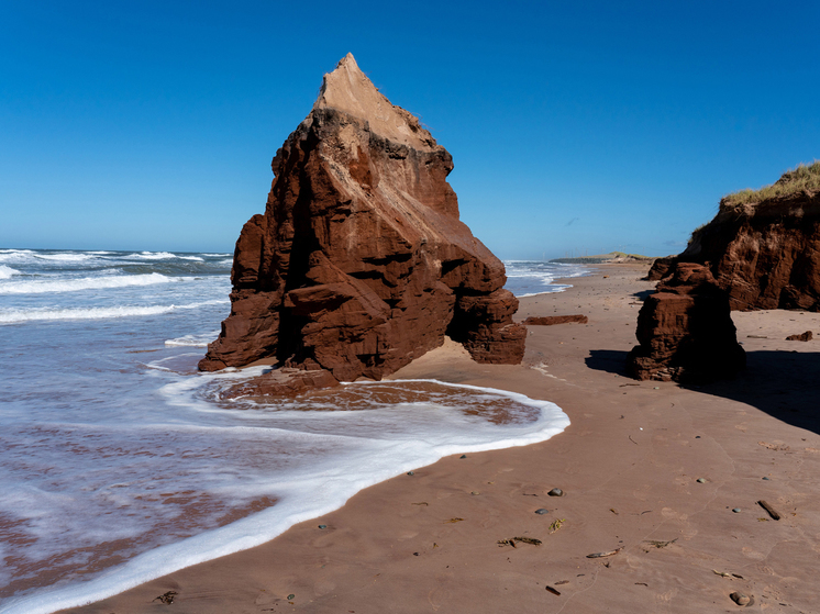
[[[590,369],[627,376],[625,351],[594,349],[586,364]],[[758,350],[746,353],[746,369],[736,379],[686,388],[740,401],[787,424],[820,434],[817,382],[820,382],[820,353]]]

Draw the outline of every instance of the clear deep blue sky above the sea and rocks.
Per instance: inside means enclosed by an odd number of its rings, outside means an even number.
[[[232,250],[346,53],[502,258],[679,252],[820,158],[820,3],[3,2],[1,247]]]

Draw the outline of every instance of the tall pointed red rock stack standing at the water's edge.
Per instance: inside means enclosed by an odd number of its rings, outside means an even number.
[[[231,314],[200,369],[280,364],[374,379],[443,342],[519,362],[505,268],[458,221],[450,154],[352,55],[277,152],[234,253]]]

